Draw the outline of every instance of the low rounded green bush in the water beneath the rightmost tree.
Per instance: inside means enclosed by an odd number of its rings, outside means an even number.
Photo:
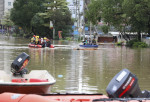
[[[141,42],[137,39],[133,39],[127,42],[126,46],[136,48],[146,48],[148,45],[145,42]]]

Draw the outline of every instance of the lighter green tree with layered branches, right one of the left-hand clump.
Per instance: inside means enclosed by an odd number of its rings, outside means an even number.
[[[73,24],[66,0],[46,0],[43,5],[47,8],[44,13],[39,13],[39,16],[44,19],[43,25],[50,27],[50,21],[52,21],[55,32],[63,31],[62,36],[66,36],[71,31],[71,25]],[[49,36],[52,36],[52,29],[50,32]]]

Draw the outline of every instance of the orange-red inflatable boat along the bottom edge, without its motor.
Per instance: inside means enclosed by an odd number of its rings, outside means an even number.
[[[2,93],[0,102],[150,102],[149,98],[108,98],[102,94],[17,94]]]

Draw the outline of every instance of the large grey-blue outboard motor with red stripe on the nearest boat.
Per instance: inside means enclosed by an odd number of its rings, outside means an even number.
[[[110,81],[106,88],[110,98],[149,98],[149,91],[142,91],[138,85],[138,79],[128,69],[121,70]]]

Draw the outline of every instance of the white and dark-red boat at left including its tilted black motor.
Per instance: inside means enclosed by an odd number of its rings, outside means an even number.
[[[31,70],[28,74],[26,66],[29,59],[29,55],[23,52],[11,64],[11,74],[0,70],[0,93],[50,93],[50,86],[55,84],[56,80],[46,70]]]

